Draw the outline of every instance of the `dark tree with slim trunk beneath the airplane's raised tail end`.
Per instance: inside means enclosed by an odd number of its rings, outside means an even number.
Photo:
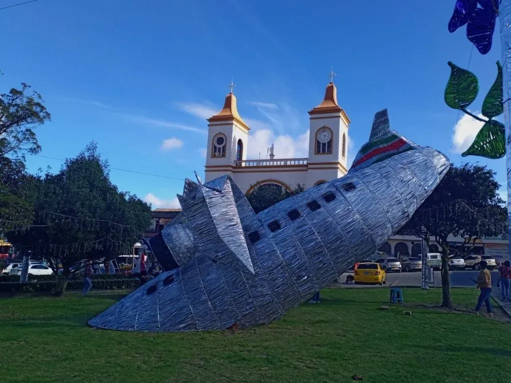
[[[428,248],[430,238],[434,238],[442,248],[443,307],[452,306],[449,235],[463,238],[463,245],[471,245],[468,253],[476,240],[505,234],[506,209],[498,195],[499,187],[495,173],[486,166],[453,166],[400,231],[424,237]]]

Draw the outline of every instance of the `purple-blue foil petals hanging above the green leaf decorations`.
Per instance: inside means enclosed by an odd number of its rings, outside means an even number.
[[[467,24],[467,38],[480,54],[492,49],[499,0],[457,0],[449,20],[449,32]]]

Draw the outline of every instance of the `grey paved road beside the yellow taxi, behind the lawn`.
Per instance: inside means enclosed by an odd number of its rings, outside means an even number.
[[[346,275],[353,275],[353,272],[342,274],[341,281],[344,282]],[[451,271],[451,286],[453,287],[475,287],[475,283],[471,278],[477,279],[478,271],[465,270],[465,271]],[[492,284],[494,288],[497,286],[497,279],[499,273],[497,271],[492,272]],[[387,273],[387,285],[392,286],[420,286],[421,285],[421,273]],[[435,285],[442,286],[440,280],[440,272],[435,271]]]

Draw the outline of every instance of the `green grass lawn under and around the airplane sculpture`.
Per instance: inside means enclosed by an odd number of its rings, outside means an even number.
[[[405,303],[440,302],[405,289]],[[454,289],[472,308],[475,289]],[[0,300],[0,381],[8,382],[504,382],[511,323],[391,306],[388,289],[328,289],[269,326],[240,331],[95,330],[87,319],[119,296]],[[387,303],[385,303],[387,304]]]

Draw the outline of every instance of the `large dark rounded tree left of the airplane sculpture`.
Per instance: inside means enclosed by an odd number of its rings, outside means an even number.
[[[151,219],[149,206],[119,192],[109,178],[108,163],[96,143],[67,159],[57,174],[39,177],[34,187],[34,224],[9,240],[46,259],[55,274],[62,265],[57,295],[66,288],[78,262],[107,261],[130,249]],[[70,217],[78,217],[73,219]]]

